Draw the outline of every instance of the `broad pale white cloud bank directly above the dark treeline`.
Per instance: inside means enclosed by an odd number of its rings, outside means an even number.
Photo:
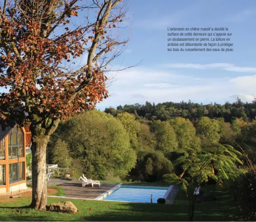
[[[224,103],[234,101],[237,96],[244,102],[251,102],[256,97],[256,75],[195,78],[193,75],[136,67],[118,72],[115,78],[108,91],[118,96],[105,99],[99,103],[100,107],[189,99],[193,102]]]

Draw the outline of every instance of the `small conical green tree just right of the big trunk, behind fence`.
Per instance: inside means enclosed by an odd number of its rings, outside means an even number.
[[[52,151],[54,164],[58,164],[60,168],[69,168],[71,166],[72,159],[68,152],[68,144],[65,141],[58,139]]]

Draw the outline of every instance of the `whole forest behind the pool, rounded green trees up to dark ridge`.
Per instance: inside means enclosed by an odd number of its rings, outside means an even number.
[[[60,123],[47,162],[74,168],[74,177],[86,172],[100,180],[147,182],[182,174],[181,156],[205,149],[234,152],[232,163],[245,167],[256,164],[255,116],[256,101],[239,98],[224,105],[146,102],[84,111]],[[218,171],[217,164],[213,168]]]

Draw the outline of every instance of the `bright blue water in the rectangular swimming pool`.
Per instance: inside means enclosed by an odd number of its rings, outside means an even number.
[[[157,186],[124,186],[104,198],[108,201],[130,201],[139,203],[150,203],[151,194],[153,203],[157,203],[158,198],[163,198],[169,187]]]

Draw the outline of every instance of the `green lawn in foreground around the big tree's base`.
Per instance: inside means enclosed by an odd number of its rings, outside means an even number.
[[[205,192],[213,189],[214,186],[207,186]],[[194,221],[237,220],[230,196],[217,192],[216,197],[216,201],[196,204]],[[30,201],[31,198],[22,197],[0,202],[0,221],[187,221],[188,213],[188,201],[182,191],[172,205],[71,200],[78,209],[75,215],[32,210],[26,207]],[[48,198],[48,204],[58,201],[64,199]]]

